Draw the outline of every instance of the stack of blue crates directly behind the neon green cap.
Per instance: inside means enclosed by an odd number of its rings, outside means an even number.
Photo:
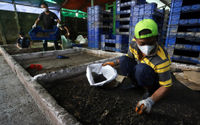
[[[133,39],[135,25],[143,19],[153,19],[158,24],[159,33],[162,33],[164,10],[157,9],[156,3],[136,5],[131,10],[129,41]],[[160,34],[160,36],[162,36]]]

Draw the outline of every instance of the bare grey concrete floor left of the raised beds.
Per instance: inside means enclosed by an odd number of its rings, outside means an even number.
[[[0,55],[0,125],[49,125]]]

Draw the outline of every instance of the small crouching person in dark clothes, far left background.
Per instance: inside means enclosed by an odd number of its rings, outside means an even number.
[[[17,48],[30,48],[30,40],[25,37],[23,32],[19,33],[19,38],[17,40]]]

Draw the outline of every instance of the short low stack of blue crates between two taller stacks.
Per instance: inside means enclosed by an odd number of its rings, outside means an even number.
[[[128,36],[126,35],[101,35],[101,49],[127,53]]]

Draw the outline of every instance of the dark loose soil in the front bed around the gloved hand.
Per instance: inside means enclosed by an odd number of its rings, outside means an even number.
[[[90,87],[85,74],[41,84],[83,125],[200,125],[200,92],[175,77],[173,83],[168,95],[143,115],[135,113],[141,89]]]

